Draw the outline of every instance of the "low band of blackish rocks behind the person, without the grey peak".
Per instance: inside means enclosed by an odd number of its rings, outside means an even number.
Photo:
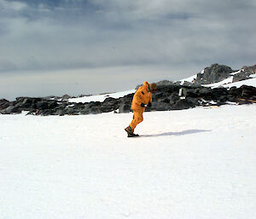
[[[125,95],[119,99],[107,98],[103,102],[73,103],[55,101],[47,98],[18,97],[16,101],[0,100],[0,113],[12,114],[28,111],[32,115],[85,115],[102,112],[131,112],[131,101],[134,94]],[[241,88],[211,89],[201,86],[181,86],[177,84],[159,85],[153,95],[152,107],[146,111],[181,110],[191,107],[221,106],[230,102],[239,104],[250,103],[241,101],[249,99],[256,101],[256,88],[243,85]]]

